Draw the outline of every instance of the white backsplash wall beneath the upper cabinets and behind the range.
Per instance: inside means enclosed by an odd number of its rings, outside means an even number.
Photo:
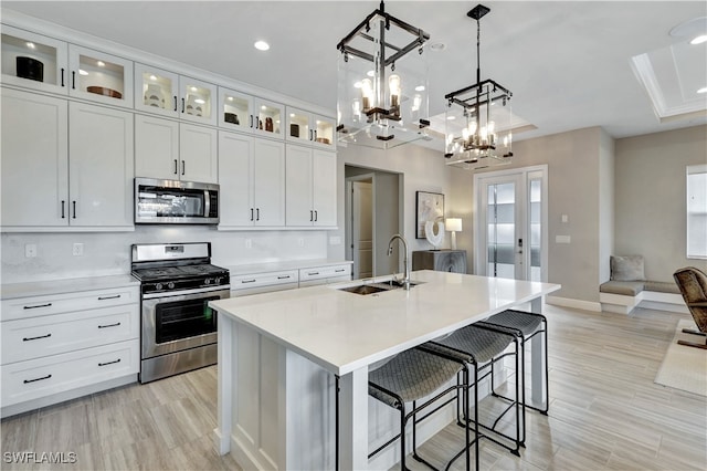
[[[231,232],[204,226],[138,226],[135,232],[3,232],[1,237],[2,283],[129,273],[133,243],[211,242],[213,263],[225,266],[327,255],[325,231]],[[72,255],[75,242],[84,244],[81,257]],[[35,258],[24,257],[27,243],[36,244]]]

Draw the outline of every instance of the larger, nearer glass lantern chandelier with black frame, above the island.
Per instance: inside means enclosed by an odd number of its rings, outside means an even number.
[[[339,41],[339,143],[388,149],[428,139],[430,34],[386,12],[370,13]]]

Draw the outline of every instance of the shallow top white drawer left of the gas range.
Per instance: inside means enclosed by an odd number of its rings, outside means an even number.
[[[138,304],[139,302],[139,286],[81,291],[48,296],[3,300],[0,304],[2,308],[0,315],[4,322],[130,303]]]

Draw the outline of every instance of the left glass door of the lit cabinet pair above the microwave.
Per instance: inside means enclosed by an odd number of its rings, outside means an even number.
[[[135,64],[135,108],[166,116],[178,116],[179,76],[171,72]]]

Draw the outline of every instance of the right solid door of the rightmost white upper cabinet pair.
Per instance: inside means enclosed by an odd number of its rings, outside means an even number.
[[[315,149],[312,155],[315,226],[336,226],[336,153]]]

